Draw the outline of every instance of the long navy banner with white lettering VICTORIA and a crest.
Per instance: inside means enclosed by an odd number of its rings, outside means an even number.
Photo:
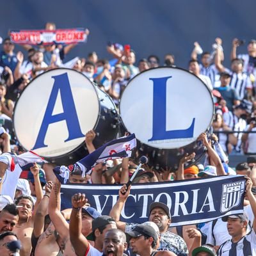
[[[71,207],[71,197],[84,193],[92,207],[108,215],[118,199],[120,185],[62,185],[61,208]],[[172,225],[189,225],[243,212],[245,179],[241,175],[210,179],[132,184],[131,194],[120,220],[143,223],[148,220],[152,202],[163,202],[170,208]]]

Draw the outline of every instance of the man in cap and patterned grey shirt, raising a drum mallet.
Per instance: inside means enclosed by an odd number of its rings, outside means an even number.
[[[134,227],[134,224],[128,224],[119,221],[121,211],[124,207],[127,197],[129,196],[131,186],[127,189],[127,192],[125,188],[126,186],[124,185],[120,189],[118,194],[119,198],[110,211],[109,215],[116,220],[118,228],[127,233],[131,231],[132,227]],[[122,193],[124,193],[124,195]],[[150,214],[148,220],[156,223],[160,231],[160,246],[157,250],[170,251],[176,253],[178,256],[188,255],[188,248],[182,237],[168,231],[168,227],[171,223],[170,210],[168,206],[160,202],[154,202],[150,205],[149,212]]]

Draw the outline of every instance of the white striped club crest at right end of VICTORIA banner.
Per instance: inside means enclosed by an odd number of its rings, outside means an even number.
[[[244,193],[245,182],[232,182],[222,185],[221,212],[227,212],[241,202]]]

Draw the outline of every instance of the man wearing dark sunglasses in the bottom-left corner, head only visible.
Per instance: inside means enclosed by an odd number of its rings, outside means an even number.
[[[6,231],[0,234],[0,255],[9,256],[15,255],[18,256],[20,251],[20,241],[17,236],[10,231]]]

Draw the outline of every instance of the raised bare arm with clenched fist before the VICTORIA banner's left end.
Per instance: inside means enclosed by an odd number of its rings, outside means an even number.
[[[82,234],[82,207],[87,199],[84,194],[72,196],[72,212],[69,223],[69,235],[77,256],[84,256],[90,244]]]

